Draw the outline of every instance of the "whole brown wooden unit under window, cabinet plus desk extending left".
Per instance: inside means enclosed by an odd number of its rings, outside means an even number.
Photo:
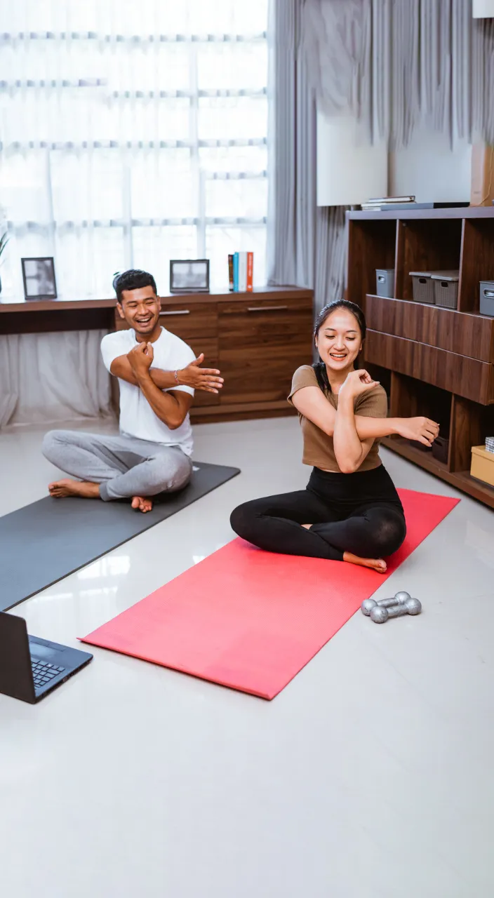
[[[221,369],[224,389],[196,392],[195,422],[296,414],[287,402],[292,375],[313,358],[313,294],[275,286],[252,293],[161,297],[166,330],[185,340],[204,366]],[[52,330],[126,330],[113,299],[30,300],[3,303],[0,333]],[[118,409],[118,383],[113,379]]]

